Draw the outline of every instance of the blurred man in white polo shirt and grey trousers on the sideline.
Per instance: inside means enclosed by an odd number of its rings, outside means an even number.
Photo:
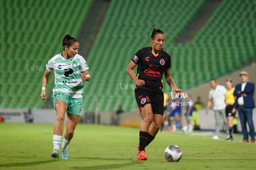
[[[215,79],[210,80],[211,90],[209,91],[209,100],[207,103],[207,109],[205,114],[208,114],[208,111],[213,103],[213,111],[215,116],[215,135],[213,139],[219,139],[220,129],[221,129],[221,117],[223,119],[224,128],[226,134],[228,134],[228,124],[225,114],[225,94],[226,88],[223,85],[218,85]]]

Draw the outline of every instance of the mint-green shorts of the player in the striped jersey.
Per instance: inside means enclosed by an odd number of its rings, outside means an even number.
[[[55,104],[60,100],[64,100],[67,104],[67,113],[80,116],[82,108],[82,98],[70,98],[69,95],[62,92],[54,92],[51,96],[53,98],[54,108]]]

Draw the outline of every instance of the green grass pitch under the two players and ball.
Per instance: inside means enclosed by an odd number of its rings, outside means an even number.
[[[148,161],[136,160],[139,129],[78,124],[69,159],[50,156],[53,124],[0,124],[0,169],[255,169],[256,145],[209,136],[159,133],[147,147]],[[200,133],[197,133],[200,134]],[[203,133],[202,133],[203,134]],[[226,136],[225,136],[226,137]],[[222,137],[223,139],[225,138]],[[168,145],[179,145],[178,163],[165,161]]]

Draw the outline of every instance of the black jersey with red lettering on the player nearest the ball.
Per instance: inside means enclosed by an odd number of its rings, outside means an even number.
[[[161,90],[163,89],[161,80],[164,70],[171,68],[171,57],[164,50],[161,50],[158,56],[154,56],[151,49],[151,46],[142,48],[132,57],[132,61],[138,64],[138,79],[145,81],[143,87],[137,88]]]

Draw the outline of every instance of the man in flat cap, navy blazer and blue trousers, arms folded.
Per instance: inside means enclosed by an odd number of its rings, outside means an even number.
[[[250,142],[255,143],[255,130],[254,121],[252,119],[252,109],[255,108],[254,103],[254,89],[255,85],[253,82],[249,82],[249,74],[245,71],[240,73],[241,83],[237,84],[234,89],[234,96],[236,101],[232,113],[238,110],[239,119],[242,127],[243,140],[242,142],[249,142],[248,132],[246,129],[246,122],[250,129]]]

